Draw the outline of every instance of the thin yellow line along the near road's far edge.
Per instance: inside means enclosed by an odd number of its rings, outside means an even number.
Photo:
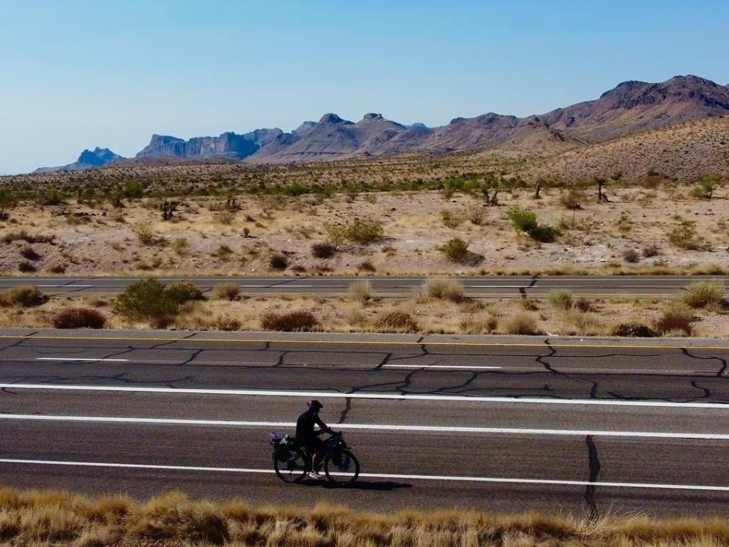
[[[668,346],[649,344],[544,344],[536,342],[428,342],[428,341],[356,341],[356,340],[305,340],[271,338],[159,338],[144,336],[58,336],[58,335],[0,335],[6,340],[101,340],[101,341],[149,341],[149,342],[210,342],[211,344],[321,344],[359,346],[475,346],[475,347],[534,347],[534,348],[590,348],[590,349],[721,349],[729,346]]]

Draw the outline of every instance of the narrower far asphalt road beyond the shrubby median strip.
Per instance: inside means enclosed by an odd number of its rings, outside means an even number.
[[[244,295],[318,295],[346,294],[349,285],[367,279],[374,295],[405,297],[420,287],[424,277],[176,277],[163,282],[190,281],[207,292],[223,282],[237,283]],[[546,295],[564,289],[575,295],[660,298],[673,295],[697,279],[719,279],[725,276],[470,276],[457,277],[467,295],[473,297],[513,297]],[[22,284],[36,284],[49,294],[107,293],[114,294],[138,281],[137,277],[0,277],[0,290]]]

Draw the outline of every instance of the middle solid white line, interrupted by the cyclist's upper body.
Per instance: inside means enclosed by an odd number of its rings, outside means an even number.
[[[253,422],[242,420],[206,420],[188,418],[135,418],[126,416],[57,416],[47,414],[0,414],[0,420],[31,420],[36,422],[86,422],[112,424],[166,424],[166,425],[205,425],[232,427],[296,427],[296,422]],[[662,432],[662,431],[605,431],[605,430],[548,430],[523,427],[464,427],[451,425],[403,425],[403,424],[332,424],[340,430],[409,431],[438,433],[488,433],[498,435],[555,435],[585,437],[628,437],[628,438],[668,438],[703,439],[709,441],[729,441],[729,434]]]

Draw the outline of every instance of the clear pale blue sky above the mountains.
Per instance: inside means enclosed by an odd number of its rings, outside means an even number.
[[[335,112],[443,125],[729,83],[727,0],[0,0],[0,174]]]

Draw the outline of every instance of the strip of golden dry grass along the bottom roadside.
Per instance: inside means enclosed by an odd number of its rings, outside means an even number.
[[[719,547],[729,542],[729,522],[641,515],[590,520],[559,512],[363,513],[324,503],[191,500],[179,492],[137,503],[125,495],[0,489],[0,537],[28,547]]]

